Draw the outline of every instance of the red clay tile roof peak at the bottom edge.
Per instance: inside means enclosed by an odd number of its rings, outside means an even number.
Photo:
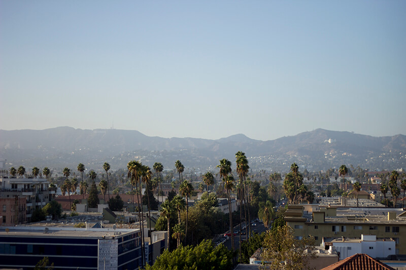
[[[321,270],[395,270],[394,268],[366,254],[355,254]]]

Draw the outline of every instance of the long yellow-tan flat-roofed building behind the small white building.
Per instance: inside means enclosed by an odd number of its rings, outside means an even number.
[[[316,245],[335,238],[360,238],[376,235],[377,239],[393,239],[396,254],[406,254],[406,212],[393,208],[338,208],[303,205],[289,206],[286,224],[294,229],[295,237],[313,236]]]

